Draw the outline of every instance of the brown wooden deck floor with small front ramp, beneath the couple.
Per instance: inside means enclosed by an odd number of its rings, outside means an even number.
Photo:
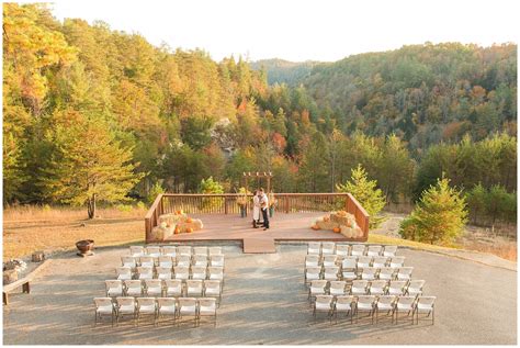
[[[310,226],[325,213],[279,213],[270,218],[270,227],[252,228],[251,216],[241,218],[236,214],[192,214],[201,218],[204,228],[191,234],[173,235],[161,243],[176,242],[241,242],[244,252],[276,252],[275,242],[348,240],[331,231],[314,231]]]

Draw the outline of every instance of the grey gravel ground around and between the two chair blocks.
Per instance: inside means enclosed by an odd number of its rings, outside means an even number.
[[[127,248],[97,250],[79,258],[56,257],[38,276],[31,294],[12,295],[3,308],[7,345],[363,345],[517,343],[517,272],[449,256],[407,250],[414,279],[436,295],[436,324],[330,325],[313,319],[303,285],[303,245],[279,245],[276,254],[244,255],[227,246],[226,283],[217,327],[180,327],[129,322],[93,327],[92,298],[104,294],[104,280]]]

